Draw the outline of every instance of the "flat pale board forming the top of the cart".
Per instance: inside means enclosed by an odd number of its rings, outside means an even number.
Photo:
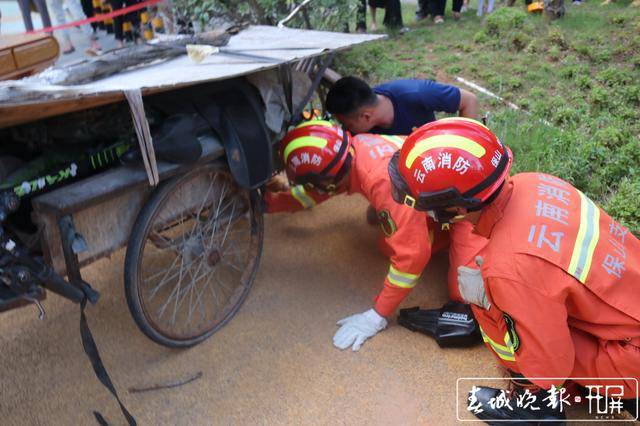
[[[183,55],[80,86],[49,85],[43,77],[46,72],[28,81],[0,82],[0,94],[5,93],[0,101],[0,128],[117,102],[123,99],[123,90],[140,89],[143,95],[175,91],[273,69],[384,37],[253,26],[229,41],[225,49],[236,54],[219,52],[200,64]]]

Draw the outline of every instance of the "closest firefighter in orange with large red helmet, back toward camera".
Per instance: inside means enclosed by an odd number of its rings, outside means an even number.
[[[450,167],[437,161],[444,156]],[[439,222],[471,222],[489,239],[481,269],[458,268],[460,293],[487,347],[540,410],[518,407],[515,393],[511,408],[492,407],[501,391],[478,387],[469,399],[482,406],[476,416],[563,420],[562,404],[542,402],[562,378],[592,395],[610,386],[635,414],[640,241],[569,183],[543,173],[509,177],[510,165],[509,149],[482,124],[441,120],[412,133],[389,166],[396,201]]]

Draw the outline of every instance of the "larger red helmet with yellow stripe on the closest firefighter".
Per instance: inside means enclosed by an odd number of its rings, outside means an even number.
[[[511,151],[483,124],[445,118],[425,124],[389,163],[393,198],[448,222],[448,207],[479,210],[509,174]]]

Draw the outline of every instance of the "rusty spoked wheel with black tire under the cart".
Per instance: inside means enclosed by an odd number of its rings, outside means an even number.
[[[140,211],[125,258],[129,310],[153,341],[188,347],[244,302],[262,251],[255,191],[207,165],[161,184]]]

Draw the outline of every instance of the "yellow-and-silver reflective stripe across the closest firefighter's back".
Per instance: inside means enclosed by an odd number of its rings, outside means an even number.
[[[593,252],[600,239],[600,209],[581,191],[580,195],[580,228],[573,246],[568,272],[584,284],[591,269]]]

